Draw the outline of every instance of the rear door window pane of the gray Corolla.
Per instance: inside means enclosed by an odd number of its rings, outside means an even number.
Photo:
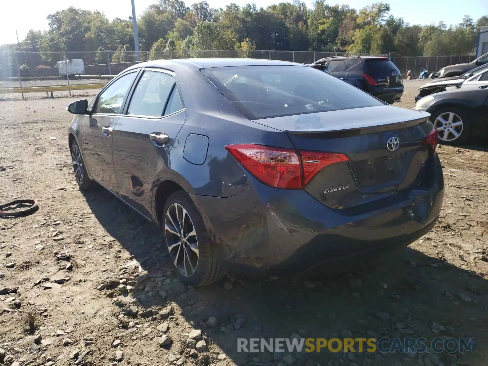
[[[128,114],[161,117],[175,78],[158,71],[144,71],[129,103]]]

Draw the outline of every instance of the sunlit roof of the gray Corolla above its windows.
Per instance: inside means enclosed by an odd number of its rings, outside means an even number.
[[[260,66],[260,65],[286,65],[286,66],[306,66],[301,63],[265,59],[246,59],[246,58],[202,58],[202,59],[168,59],[154,60],[137,63],[130,68],[139,67],[163,67],[172,69],[181,66],[186,68],[204,69],[209,67],[226,67],[226,66]],[[173,66],[173,67],[171,67]]]

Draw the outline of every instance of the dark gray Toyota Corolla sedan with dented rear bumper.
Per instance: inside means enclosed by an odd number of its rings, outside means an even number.
[[[429,114],[307,65],[148,61],[67,109],[80,188],[158,224],[187,285],[345,270],[412,243],[441,209]]]

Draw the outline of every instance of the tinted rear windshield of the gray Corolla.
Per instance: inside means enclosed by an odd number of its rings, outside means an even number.
[[[250,120],[383,105],[313,67],[229,66],[202,72]]]

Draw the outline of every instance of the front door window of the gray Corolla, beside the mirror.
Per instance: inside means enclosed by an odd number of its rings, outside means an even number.
[[[137,72],[124,75],[110,84],[100,94],[95,113],[118,114],[122,103],[136,78]]]

